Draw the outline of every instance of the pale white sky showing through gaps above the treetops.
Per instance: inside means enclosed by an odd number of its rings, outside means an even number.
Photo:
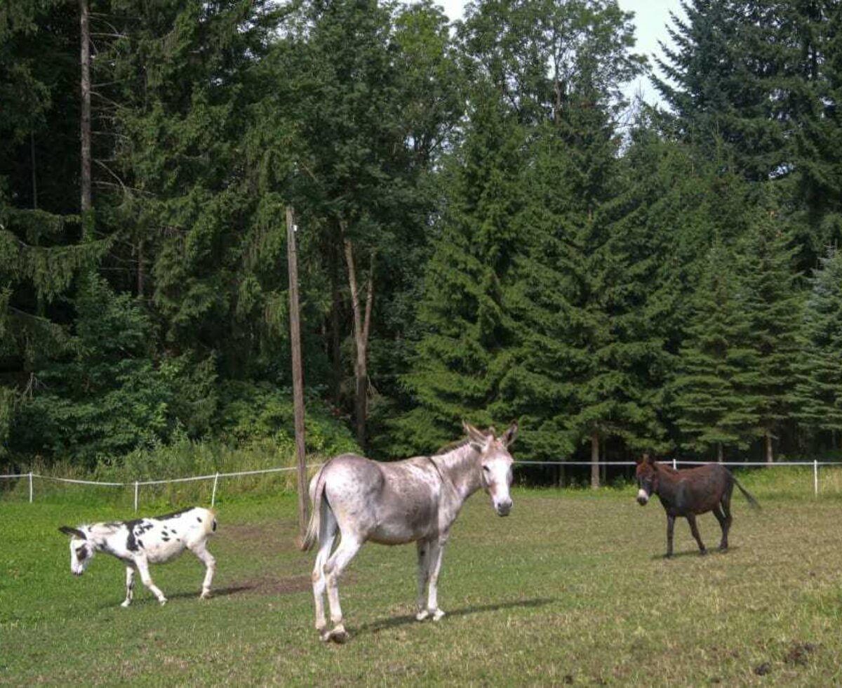
[[[679,17],[684,17],[679,0],[618,0],[618,2],[623,10],[635,14],[637,38],[635,51],[647,56],[649,63],[655,67],[653,56],[661,54],[658,40],[669,45],[666,27],[668,24],[672,26],[669,18],[670,11],[678,14]],[[451,20],[461,19],[466,0],[437,0],[437,4],[445,8],[445,14]],[[626,95],[630,97],[638,92],[648,103],[658,102],[658,93],[647,78],[638,79],[637,83],[629,84],[626,88]]]

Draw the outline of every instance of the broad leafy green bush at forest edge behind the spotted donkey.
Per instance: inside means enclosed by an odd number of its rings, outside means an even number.
[[[40,369],[10,444],[42,456],[75,456],[93,467],[98,456],[166,440],[175,395],[153,363],[151,323],[131,296],[115,296],[88,273],[75,302],[72,354]]]

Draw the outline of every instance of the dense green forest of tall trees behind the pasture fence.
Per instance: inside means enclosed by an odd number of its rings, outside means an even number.
[[[288,205],[311,451],[838,457],[839,29],[686,0],[655,72],[616,0],[5,0],[0,469],[287,441]]]

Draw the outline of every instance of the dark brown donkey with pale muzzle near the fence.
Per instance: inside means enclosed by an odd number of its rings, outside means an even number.
[[[695,525],[696,514],[706,514],[712,511],[722,527],[722,541],[719,551],[728,548],[728,531],[731,529],[731,493],[734,485],[749,500],[753,509],[760,505],[737,478],[721,464],[709,463],[706,466],[687,468],[676,471],[664,466],[647,454],[637,461],[637,503],[646,506],[649,497],[658,495],[667,512],[667,558],[673,556],[673,531],[676,516],[684,516],[690,524],[695,541],[699,543],[699,552],[706,554],[707,550],[699,536],[699,529]]]

